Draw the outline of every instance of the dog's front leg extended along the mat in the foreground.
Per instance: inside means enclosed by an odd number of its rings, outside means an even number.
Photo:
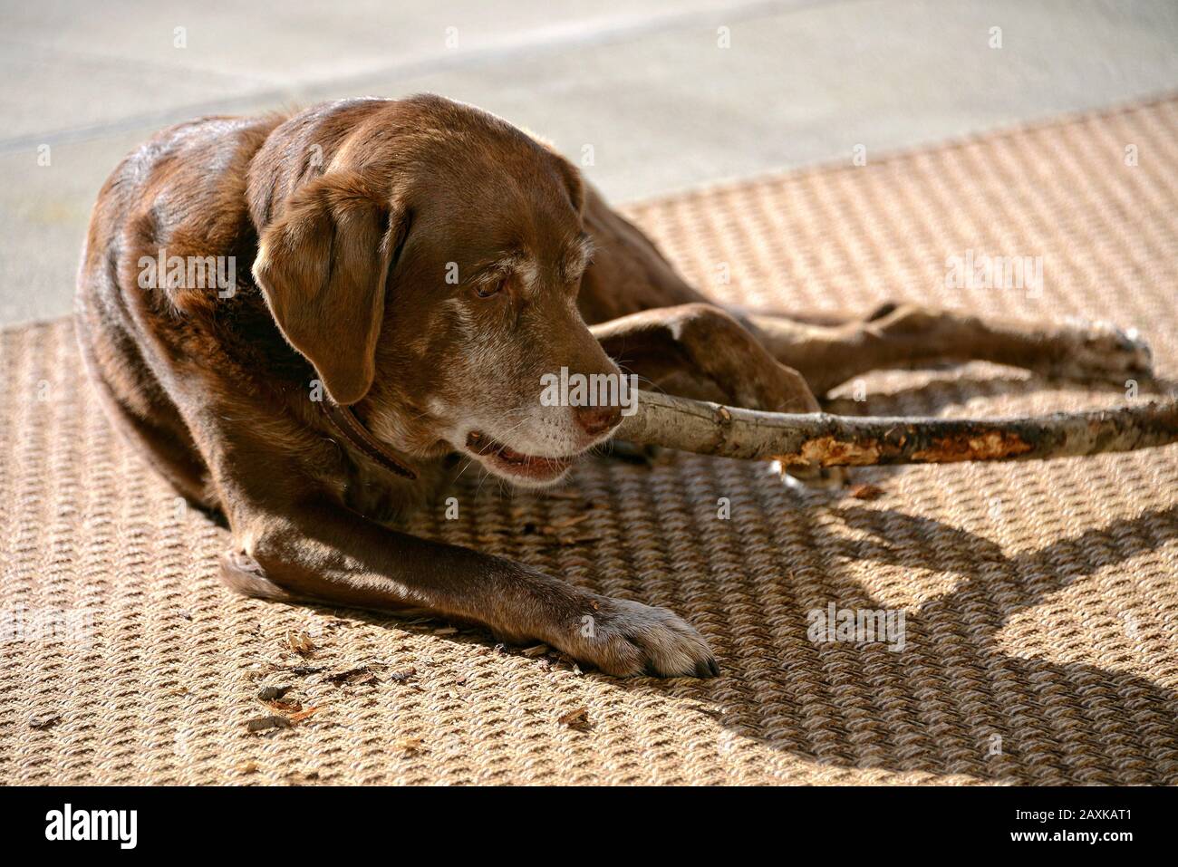
[[[615,675],[719,673],[703,638],[671,611],[390,530],[338,505],[316,484],[315,470],[279,456],[285,448],[276,454],[251,436],[220,430],[217,442],[232,446],[210,455],[233,536],[221,558],[232,589],[292,602],[425,609],[484,624],[504,641],[544,642]],[[313,448],[302,452],[310,464],[330,459]]]

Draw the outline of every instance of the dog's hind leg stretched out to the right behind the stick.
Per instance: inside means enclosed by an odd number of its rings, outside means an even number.
[[[885,305],[859,322],[813,325],[749,313],[746,324],[818,393],[869,370],[985,360],[1047,376],[1106,380],[1150,377],[1149,346],[1106,323],[1026,325],[913,304]]]

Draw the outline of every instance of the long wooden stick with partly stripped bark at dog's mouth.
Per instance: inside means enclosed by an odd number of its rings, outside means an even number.
[[[1178,442],[1178,402],[1030,418],[855,418],[756,412],[640,391],[637,411],[616,437],[790,466],[1045,461]]]

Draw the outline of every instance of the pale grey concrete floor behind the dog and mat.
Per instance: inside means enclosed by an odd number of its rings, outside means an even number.
[[[203,113],[434,91],[622,201],[1178,88],[1174,0],[2,0],[0,34],[0,323],[70,310],[107,173]]]

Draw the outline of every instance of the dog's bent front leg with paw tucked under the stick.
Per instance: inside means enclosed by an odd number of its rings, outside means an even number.
[[[631,313],[590,327],[607,355],[648,386],[772,412],[818,412],[806,379],[776,360],[732,315],[710,304]],[[785,468],[808,484],[845,481],[840,468]]]

